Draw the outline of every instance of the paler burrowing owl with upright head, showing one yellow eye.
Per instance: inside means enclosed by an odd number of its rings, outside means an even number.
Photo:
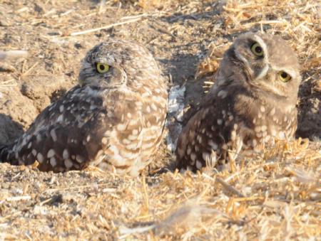
[[[167,85],[156,60],[142,45],[108,41],[91,49],[79,85],[46,107],[0,161],[39,161],[41,171],[112,166],[137,176],[161,143]]]

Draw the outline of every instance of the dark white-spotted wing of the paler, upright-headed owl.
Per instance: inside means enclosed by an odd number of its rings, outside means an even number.
[[[32,164],[36,159],[42,171],[65,171],[94,163],[115,144],[111,141],[122,144],[134,128],[141,131],[141,114],[133,105],[119,92],[74,87],[44,109],[17,141],[16,164]],[[128,109],[131,118],[125,112]],[[136,122],[131,123],[132,119]]]

